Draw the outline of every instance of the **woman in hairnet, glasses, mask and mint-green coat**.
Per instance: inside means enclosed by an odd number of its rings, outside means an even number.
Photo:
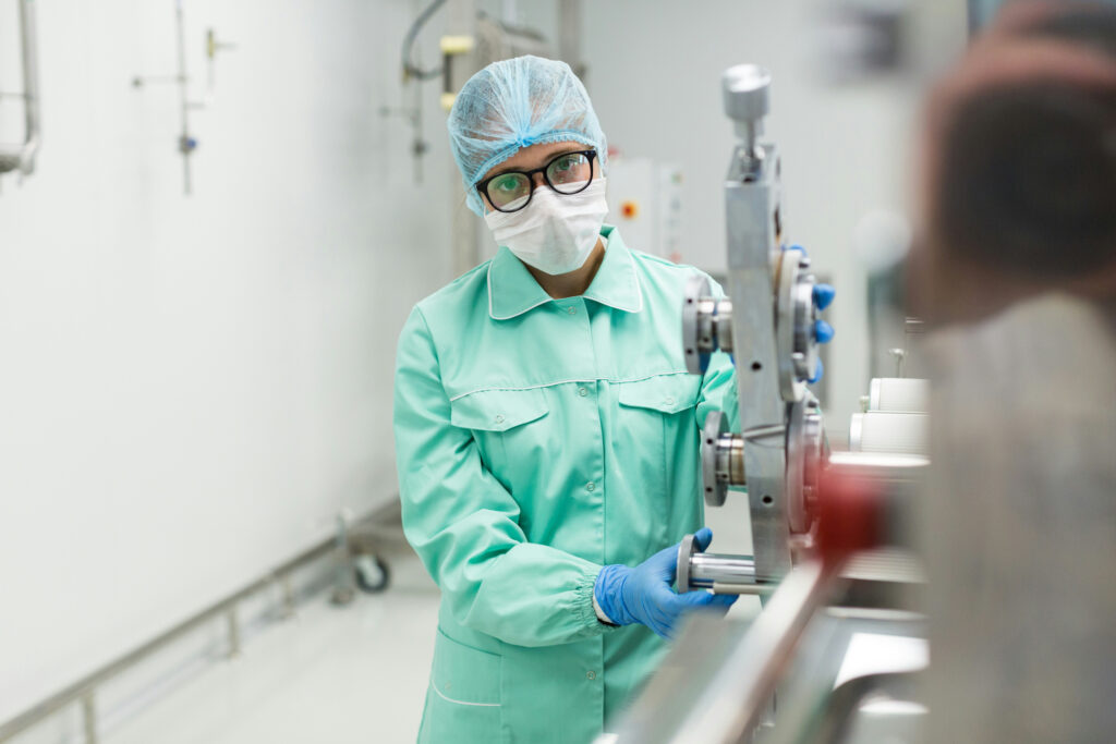
[[[449,127],[500,249],[400,338],[403,524],[442,590],[419,738],[588,742],[681,615],[734,599],[671,587],[676,542],[703,523],[700,427],[735,419],[732,367],[685,371],[700,272],[603,224],[605,135],[566,64],[490,65]]]

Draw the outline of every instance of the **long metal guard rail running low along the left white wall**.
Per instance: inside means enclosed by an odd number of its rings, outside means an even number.
[[[281,563],[272,571],[268,571],[267,574],[251,582],[243,589],[225,597],[224,599],[218,601],[211,607],[202,610],[201,612],[190,617],[179,625],[174,626],[166,632],[156,636],[155,638],[143,644],[135,650],[125,654],[115,661],[110,661],[105,666],[96,669],[89,675],[78,679],[73,685],[65,687],[58,693],[51,695],[45,700],[32,705],[19,715],[10,718],[2,725],[0,725],[0,742],[6,742],[22,731],[30,728],[44,718],[57,713],[61,708],[70,705],[79,699],[83,699],[86,695],[92,695],[93,690],[98,686],[103,685],[108,679],[112,679],[116,675],[125,671],[126,669],[135,666],[136,664],[143,661],[152,654],[158,651],[163,647],[173,642],[177,638],[189,634],[190,631],[211,622],[213,619],[221,617],[229,611],[230,607],[233,607],[241,602],[242,600],[251,597],[258,591],[264,590],[271,586],[272,577],[276,573],[289,574],[290,572],[319,560],[326,555],[330,555],[335,550],[335,538],[329,537],[326,540],[312,545],[311,548],[302,551],[301,553],[295,555],[290,560]]]

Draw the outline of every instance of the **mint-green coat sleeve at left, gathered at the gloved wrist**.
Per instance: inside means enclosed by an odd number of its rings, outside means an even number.
[[[519,505],[450,423],[437,352],[415,308],[400,338],[395,448],[403,530],[461,625],[517,646],[604,632],[593,609],[600,566],[527,541]]]

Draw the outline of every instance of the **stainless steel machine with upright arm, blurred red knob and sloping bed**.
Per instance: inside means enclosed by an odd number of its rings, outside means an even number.
[[[866,697],[913,697],[913,669],[925,664],[923,620],[911,609],[921,570],[904,548],[927,460],[829,450],[807,387],[818,351],[815,278],[802,251],[783,250],[779,155],[760,139],[770,85],[753,65],[724,73],[724,110],[738,137],[724,185],[728,297],[692,283],[682,328],[691,373],[703,373],[719,349],[735,366],[739,433],[730,432],[731,415],[708,416],[703,493],[719,506],[730,487],[747,489],[754,554],[703,554],[687,535],[676,571],[680,592],[758,593],[764,608],[750,626],[692,620],[602,741],[848,741]],[[848,671],[854,647],[892,642],[906,644],[917,663]],[[918,706],[908,702],[910,714]],[[912,721],[884,718],[864,741],[903,733]]]

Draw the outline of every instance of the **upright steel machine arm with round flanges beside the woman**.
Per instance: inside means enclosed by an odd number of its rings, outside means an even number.
[[[724,109],[739,142],[725,181],[729,298],[712,297],[709,282],[687,287],[683,305],[683,344],[687,368],[701,374],[710,355],[734,355],[742,433],[729,434],[724,417],[706,418],[702,473],[705,501],[724,503],[730,486],[748,487],[752,557],[702,557],[703,568],[737,577],[718,590],[781,579],[791,566],[790,537],[809,532],[811,497],[824,455],[821,412],[806,384],[817,364],[814,276],[800,250],[783,250],[779,211],[779,156],[760,143],[768,114],[771,78],[753,65],[723,77]],[[694,560],[679,552],[679,590],[702,586],[684,570]],[[745,578],[734,571],[751,562]],[[718,566],[723,562],[723,566]],[[722,571],[723,569],[723,571]]]

